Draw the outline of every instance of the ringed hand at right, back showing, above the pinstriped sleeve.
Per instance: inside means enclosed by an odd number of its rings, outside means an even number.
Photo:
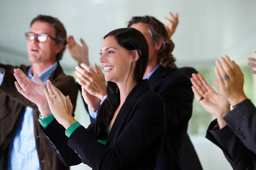
[[[225,55],[216,61],[215,74],[219,84],[219,91],[225,95],[232,106],[235,106],[245,99],[244,75],[240,67]]]

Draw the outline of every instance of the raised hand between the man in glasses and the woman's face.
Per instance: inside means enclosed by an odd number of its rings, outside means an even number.
[[[76,43],[73,36],[68,36],[67,50],[70,53],[70,55],[78,62],[79,66],[81,63],[89,65],[88,46],[82,38],[80,38],[80,41],[82,46],[79,46],[79,44]]]

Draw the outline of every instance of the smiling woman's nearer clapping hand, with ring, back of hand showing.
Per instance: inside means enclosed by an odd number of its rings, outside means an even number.
[[[47,98],[51,112],[54,115],[54,118],[58,121],[58,123],[67,129],[68,127],[70,127],[71,124],[76,122],[76,120],[72,116],[72,102],[69,96],[64,96],[63,93],[58,88],[56,88],[49,80],[47,80],[47,89],[44,88],[44,95]],[[52,96],[54,95],[55,98],[52,98]]]

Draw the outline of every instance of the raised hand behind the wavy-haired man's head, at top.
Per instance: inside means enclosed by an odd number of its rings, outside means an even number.
[[[170,15],[170,18],[165,17],[164,19],[168,22],[168,24],[165,25],[165,27],[166,27],[166,31],[168,33],[169,38],[171,38],[178,26],[179,15],[178,13],[175,13],[175,16],[174,16],[172,12],[169,12],[169,15]]]

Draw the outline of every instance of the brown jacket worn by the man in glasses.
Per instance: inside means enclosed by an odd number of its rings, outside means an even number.
[[[16,79],[13,75],[13,69],[18,67],[3,64],[0,64],[0,67],[5,69],[5,78],[0,85],[0,170],[6,170],[8,147],[20,126],[25,106],[33,108],[35,143],[41,170],[69,170],[69,167],[66,167],[61,162],[55,151],[49,146],[47,139],[41,132],[38,122],[40,114],[38,107],[23,97],[15,87],[14,82]],[[28,72],[29,66],[21,65],[19,68],[26,73]],[[58,64],[58,67],[52,73],[49,80],[64,95],[70,96],[74,106],[73,110],[75,110],[78,87],[74,78],[65,75],[61,66]]]

